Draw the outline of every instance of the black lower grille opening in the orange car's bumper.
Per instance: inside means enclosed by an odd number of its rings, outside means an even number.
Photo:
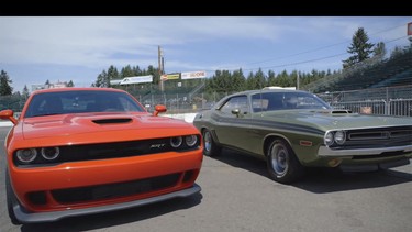
[[[81,203],[127,197],[172,187],[179,180],[179,176],[180,174],[170,174],[127,183],[52,190],[52,196],[59,203]]]

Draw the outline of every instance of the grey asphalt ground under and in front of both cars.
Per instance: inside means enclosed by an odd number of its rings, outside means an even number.
[[[0,143],[9,128],[0,128]],[[186,199],[65,219],[11,224],[0,150],[0,231],[412,231],[412,165],[337,175],[314,169],[294,185],[270,180],[264,162],[224,150],[204,157],[200,194]]]

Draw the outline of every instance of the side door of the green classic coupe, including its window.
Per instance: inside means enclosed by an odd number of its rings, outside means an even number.
[[[215,110],[215,134],[221,144],[246,150],[250,106],[246,95],[235,96]]]

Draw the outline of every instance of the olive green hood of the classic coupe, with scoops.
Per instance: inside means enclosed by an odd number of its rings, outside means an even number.
[[[285,123],[310,125],[322,131],[333,129],[360,129],[390,125],[412,125],[410,118],[350,113],[346,110],[288,110],[267,112],[266,118]]]

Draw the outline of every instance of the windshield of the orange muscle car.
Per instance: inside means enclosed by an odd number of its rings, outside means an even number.
[[[69,90],[43,92],[33,96],[24,118],[110,111],[145,112],[145,110],[125,92]]]

